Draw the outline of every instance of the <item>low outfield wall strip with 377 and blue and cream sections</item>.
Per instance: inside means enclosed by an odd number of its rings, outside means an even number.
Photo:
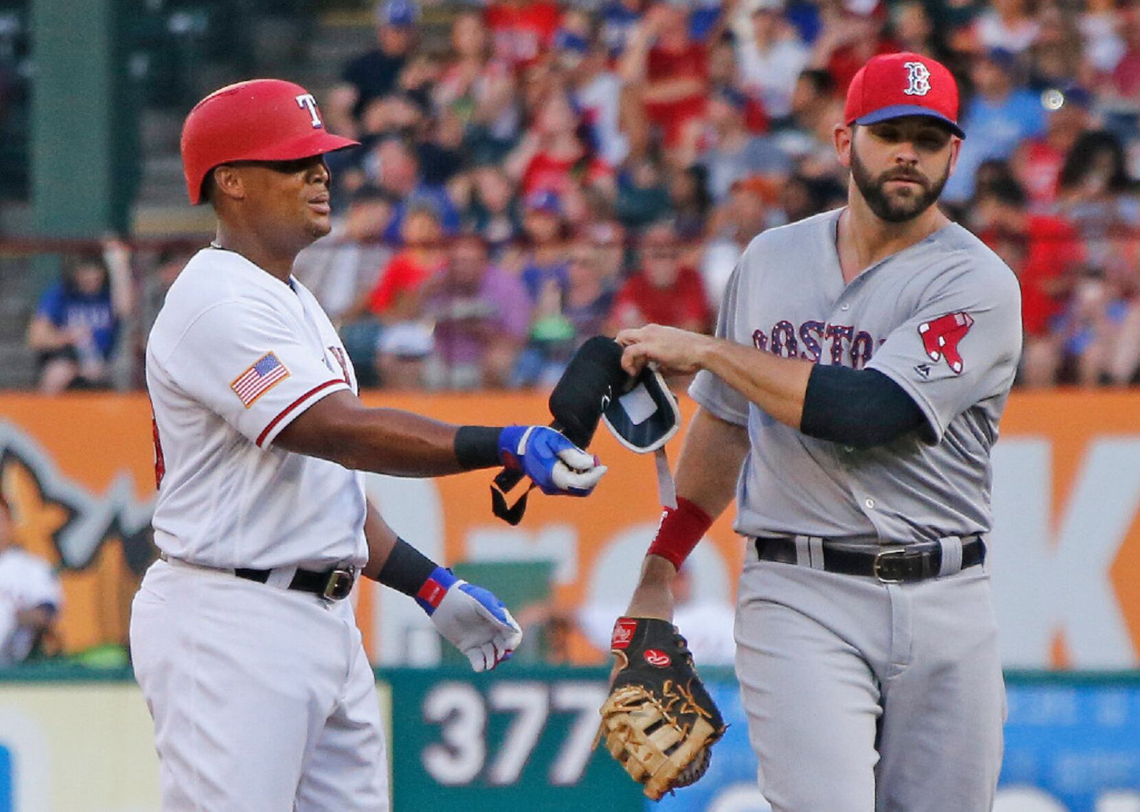
[[[732,672],[703,673],[728,731],[701,781],[651,804],[591,747],[604,669],[381,670],[393,809],[768,812]],[[995,812],[1140,810],[1140,673],[1007,681]],[[130,672],[0,675],[0,812],[157,810],[150,720]]]

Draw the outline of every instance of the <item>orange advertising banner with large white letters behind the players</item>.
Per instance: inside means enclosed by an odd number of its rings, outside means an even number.
[[[549,419],[537,393],[365,400],[457,424]],[[682,411],[687,423],[692,402],[683,400]],[[679,441],[670,443],[674,459],[678,449]],[[593,604],[620,612],[660,514],[654,464],[604,428],[592,450],[610,467],[595,493],[585,500],[535,493],[518,527],[491,516],[491,471],[431,481],[376,476],[368,493],[397,532],[442,563],[548,561],[547,609],[575,615]],[[1140,392],[1015,393],[994,460],[991,566],[1007,664],[1140,664]],[[0,483],[18,543],[59,568],[62,649],[125,642],[131,597],[156,555],[145,395],[0,395]],[[691,559],[694,592],[727,607],[730,621],[743,556],[732,514]],[[423,658],[416,641],[426,618],[417,620],[412,601],[372,584],[357,600],[374,661]],[[584,662],[602,654],[596,639],[576,638],[568,656]]]

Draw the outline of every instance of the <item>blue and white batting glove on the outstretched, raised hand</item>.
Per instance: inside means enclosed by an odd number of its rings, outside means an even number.
[[[504,428],[499,459],[507,468],[522,468],[547,495],[587,497],[606,470],[594,454],[546,426]]]

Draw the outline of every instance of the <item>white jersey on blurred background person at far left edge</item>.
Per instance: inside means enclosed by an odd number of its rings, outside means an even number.
[[[63,605],[59,577],[51,565],[18,547],[0,551],[0,667],[22,662],[35,635],[16,623],[16,613]]]

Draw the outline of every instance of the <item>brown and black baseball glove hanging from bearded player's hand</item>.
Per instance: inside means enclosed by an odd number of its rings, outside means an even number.
[[[685,639],[668,621],[619,617],[610,650],[619,670],[602,705],[597,740],[658,801],[705,774],[725,723]]]

